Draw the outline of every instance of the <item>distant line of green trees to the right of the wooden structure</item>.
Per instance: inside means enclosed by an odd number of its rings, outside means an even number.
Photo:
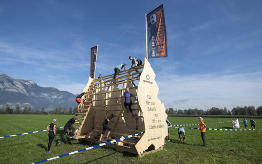
[[[202,109],[173,109],[168,108],[166,109],[167,114],[184,114],[184,115],[262,115],[262,106],[255,109],[253,106],[249,107],[235,107],[231,111],[224,108],[224,109],[218,109],[216,107],[213,107],[208,110],[202,110]]]

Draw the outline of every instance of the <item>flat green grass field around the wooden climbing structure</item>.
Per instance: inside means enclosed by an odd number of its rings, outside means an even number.
[[[0,136],[26,133],[46,129],[53,118],[56,127],[62,127],[73,115],[0,115]],[[168,117],[172,124],[199,124],[197,117]],[[239,119],[242,121],[242,119]],[[262,119],[254,119],[262,128]],[[229,118],[205,118],[206,128],[232,128],[232,124],[208,124],[230,121]],[[248,120],[249,121],[249,120]],[[244,129],[243,124],[240,124]],[[199,126],[187,126],[199,128]],[[250,126],[248,128],[251,128]],[[262,164],[262,130],[215,131],[206,130],[206,144],[203,145],[199,129],[185,129],[185,142],[178,142],[177,128],[170,128],[171,142],[164,149],[138,158],[136,155],[108,147],[98,147],[69,155],[45,164]],[[63,128],[57,130],[57,137],[47,153],[48,132],[0,139],[0,164],[30,164],[52,158],[94,144],[64,137],[62,145],[57,140]]]

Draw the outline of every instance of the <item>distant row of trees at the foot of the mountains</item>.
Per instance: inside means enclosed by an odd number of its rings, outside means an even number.
[[[36,109],[33,111],[31,107],[20,109],[19,105],[17,105],[16,109],[11,109],[9,105],[6,105],[0,110],[0,114],[74,114],[76,110],[77,106],[74,109],[70,107],[69,110],[60,106],[51,111],[45,111],[44,107],[41,110]]]

